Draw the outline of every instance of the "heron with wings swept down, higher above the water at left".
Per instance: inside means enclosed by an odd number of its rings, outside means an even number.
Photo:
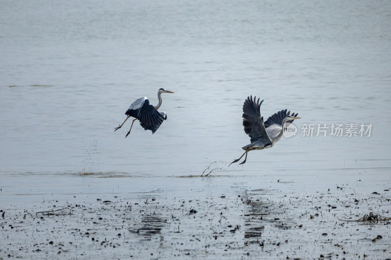
[[[129,109],[125,112],[125,115],[128,117],[125,119],[125,121],[118,127],[115,128],[114,132],[120,129],[126,120],[128,120],[130,117],[133,117],[133,122],[131,123],[130,130],[133,126],[133,123],[135,120],[140,121],[140,125],[145,129],[145,130],[151,130],[152,134],[156,132],[156,130],[160,127],[162,124],[163,120],[167,120],[167,114],[165,112],[159,113],[157,110],[159,107],[162,105],[162,93],[174,93],[172,91],[169,91],[164,88],[160,88],[157,91],[157,98],[159,99],[159,103],[155,106],[150,104],[150,100],[148,100],[147,97],[140,98],[136,101],[134,101]],[[128,137],[130,134],[130,130],[128,134],[126,134],[125,138]]]

